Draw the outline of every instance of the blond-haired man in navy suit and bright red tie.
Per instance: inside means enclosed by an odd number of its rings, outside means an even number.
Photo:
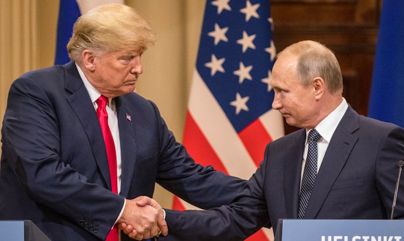
[[[52,240],[167,234],[155,183],[201,208],[229,204],[245,180],[195,164],[157,106],[134,93],[155,33],[110,4],[74,25],[72,62],[12,84],[2,128],[0,219],[32,220]],[[214,197],[214,198],[212,198]],[[146,199],[147,200],[147,199]]]

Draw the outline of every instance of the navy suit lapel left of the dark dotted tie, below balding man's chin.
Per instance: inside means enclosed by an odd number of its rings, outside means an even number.
[[[306,132],[305,129],[301,129],[300,134],[296,141],[284,150],[287,155],[284,162],[283,179],[284,179],[284,193],[285,193],[285,205],[288,218],[297,218],[297,208],[299,206],[300,191],[300,174],[302,156],[305,148]]]

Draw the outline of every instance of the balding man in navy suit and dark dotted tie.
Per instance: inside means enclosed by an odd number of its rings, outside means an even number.
[[[335,55],[315,41],[278,54],[271,86],[272,107],[302,129],[267,145],[264,161],[230,206],[166,210],[170,240],[243,240],[264,225],[276,231],[281,218],[390,218],[404,130],[353,110],[342,97]],[[404,218],[403,202],[393,218]]]

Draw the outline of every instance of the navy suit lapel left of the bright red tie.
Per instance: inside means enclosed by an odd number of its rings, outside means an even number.
[[[88,137],[92,153],[98,169],[104,178],[104,183],[111,190],[111,177],[108,166],[107,151],[104,138],[99,127],[98,118],[92,105],[90,96],[73,62],[66,65],[67,101],[80,120]]]

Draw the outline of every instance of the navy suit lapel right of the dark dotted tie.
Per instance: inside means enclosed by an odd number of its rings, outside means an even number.
[[[328,193],[341,172],[358,138],[352,135],[359,129],[358,114],[349,106],[328,145],[323,162],[305,212],[305,218],[317,216]]]

